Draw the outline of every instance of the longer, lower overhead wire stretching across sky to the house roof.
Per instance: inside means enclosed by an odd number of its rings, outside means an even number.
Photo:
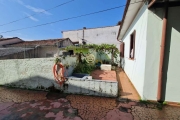
[[[138,1],[138,2],[134,2],[134,3],[130,3],[130,4],[136,4],[136,3],[139,3],[139,2],[143,2],[143,1]],[[126,5],[121,5],[121,6],[117,6],[117,7],[97,11],[97,12],[92,12],[92,13],[88,13],[88,14],[83,14],[83,15],[79,15],[79,16],[75,16],[75,17],[69,17],[69,18],[65,18],[65,19],[61,19],[61,20],[57,20],[57,21],[53,21],[53,22],[48,22],[48,23],[44,23],[44,24],[39,24],[39,25],[35,25],[35,26],[30,26],[30,27],[25,27],[25,28],[19,28],[19,29],[4,31],[4,32],[1,32],[0,34],[13,32],[13,31],[24,30],[24,29],[29,29],[29,28],[34,28],[34,27],[40,27],[40,26],[44,26],[44,25],[48,25],[48,24],[54,24],[54,23],[58,23],[58,22],[61,22],[61,21],[66,21],[66,20],[70,20],[70,19],[76,19],[76,18],[80,18],[80,17],[84,17],[84,16],[89,16],[89,15],[93,15],[93,14],[97,14],[97,13],[102,13],[102,12],[114,10],[114,9],[121,8],[121,7],[124,7],[124,6],[126,6]]]

